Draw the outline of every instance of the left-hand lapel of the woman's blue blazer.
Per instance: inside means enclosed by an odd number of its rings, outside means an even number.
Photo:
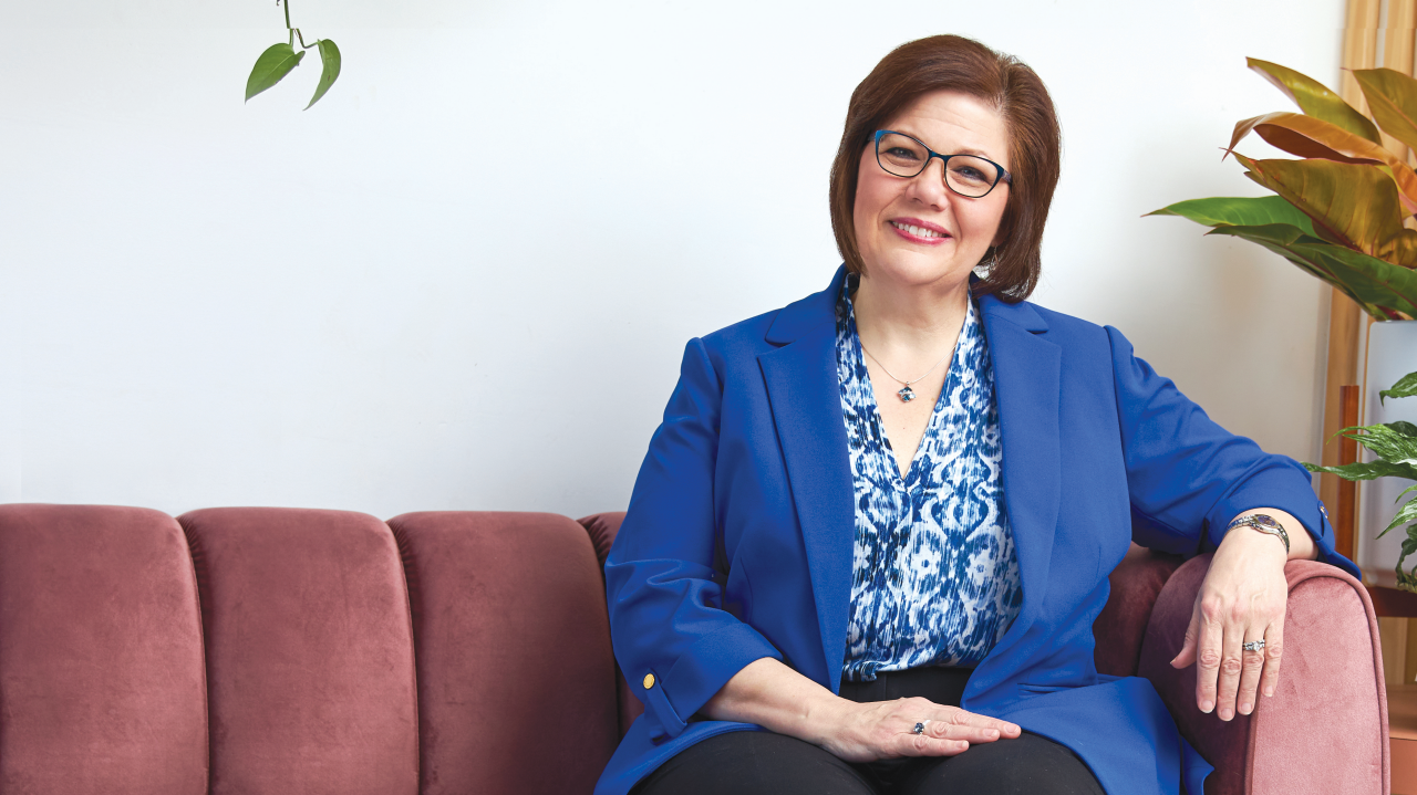
[[[796,663],[803,675],[833,693],[840,687],[846,654],[856,525],[836,376],[836,297],[845,273],[837,269],[826,290],[785,307],[767,334],[768,342],[782,347],[758,355],[802,528],[822,634],[823,668],[811,671],[808,661]]]

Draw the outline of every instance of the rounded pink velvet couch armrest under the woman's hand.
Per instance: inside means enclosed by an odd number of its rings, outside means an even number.
[[[1170,666],[1210,557],[1187,560],[1166,581],[1138,666],[1182,736],[1216,767],[1206,795],[1386,795],[1387,692],[1367,590],[1326,563],[1285,566],[1289,603],[1278,689],[1260,697],[1254,714],[1226,723],[1196,707],[1196,666]]]

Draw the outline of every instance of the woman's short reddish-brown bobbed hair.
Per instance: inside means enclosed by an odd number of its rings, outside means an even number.
[[[832,161],[832,231],[852,273],[866,270],[856,248],[856,175],[876,130],[905,105],[932,91],[958,91],[993,105],[1009,130],[1009,204],[1000,229],[1006,242],[990,248],[995,265],[981,274],[975,294],[1005,301],[1027,298],[1043,267],[1043,222],[1058,184],[1063,134],[1053,99],[1039,75],[1012,55],[959,35],[932,35],[903,44],[866,75],[846,110],[842,146]]]

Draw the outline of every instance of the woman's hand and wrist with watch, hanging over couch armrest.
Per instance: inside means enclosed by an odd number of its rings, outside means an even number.
[[[1246,513],[1267,513],[1282,523],[1292,555],[1277,536],[1248,526],[1229,530],[1196,594],[1180,654],[1170,661],[1173,668],[1196,663],[1196,704],[1200,712],[1216,710],[1220,720],[1254,712],[1257,690],[1274,695],[1289,598],[1284,564],[1291,556],[1315,555],[1314,540],[1294,516],[1268,508]],[[1264,641],[1264,648],[1241,648],[1251,641]]]

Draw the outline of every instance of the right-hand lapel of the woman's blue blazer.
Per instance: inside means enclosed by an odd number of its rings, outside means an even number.
[[[1047,323],[1032,306],[1006,304],[993,296],[979,298],[979,306],[993,362],[995,399],[1003,436],[1003,502],[1023,586],[1019,618],[988,658],[996,659],[1039,618],[1047,596],[1060,498],[1058,390],[1063,349],[1040,335],[1047,331]],[[990,678],[981,679],[985,679],[979,682],[982,689]]]

